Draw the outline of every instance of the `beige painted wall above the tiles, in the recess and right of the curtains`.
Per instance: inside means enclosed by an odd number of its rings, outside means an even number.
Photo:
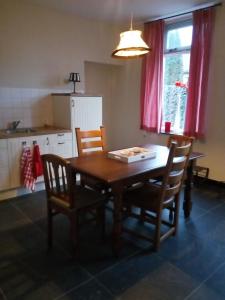
[[[195,150],[206,154],[199,164],[210,168],[210,178],[225,181],[224,7],[218,8],[217,17],[208,133]],[[165,144],[165,136],[139,130],[141,60],[123,63],[110,58],[118,33],[118,28],[109,24],[23,5],[22,1],[0,0],[0,87],[71,90],[65,79],[69,72],[79,72],[82,82],[78,90],[86,88],[105,98],[103,119],[112,148]],[[29,95],[26,98],[29,101]],[[0,107],[1,101],[0,97]],[[13,116],[16,118],[16,110]]]

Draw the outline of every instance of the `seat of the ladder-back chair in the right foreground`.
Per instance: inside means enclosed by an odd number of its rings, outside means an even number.
[[[154,183],[146,183],[139,188],[130,188],[124,194],[124,204],[157,211],[160,205],[161,190],[161,185]],[[166,199],[163,208],[169,206],[172,201],[173,197]]]

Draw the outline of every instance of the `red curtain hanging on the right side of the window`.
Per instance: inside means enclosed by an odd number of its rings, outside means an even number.
[[[214,9],[193,13],[188,99],[184,134],[204,138]]]

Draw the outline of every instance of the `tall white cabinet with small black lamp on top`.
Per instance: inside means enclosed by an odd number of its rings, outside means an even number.
[[[55,126],[72,130],[72,153],[77,156],[75,128],[95,130],[102,125],[102,97],[75,94],[53,94]]]

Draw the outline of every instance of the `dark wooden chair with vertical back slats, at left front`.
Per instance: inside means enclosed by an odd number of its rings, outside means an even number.
[[[68,161],[54,154],[42,155],[47,194],[48,248],[52,247],[53,216],[62,213],[70,221],[70,237],[78,246],[78,217],[83,211],[95,210],[95,220],[101,222],[104,234],[105,197],[93,190],[76,185],[76,176]]]

